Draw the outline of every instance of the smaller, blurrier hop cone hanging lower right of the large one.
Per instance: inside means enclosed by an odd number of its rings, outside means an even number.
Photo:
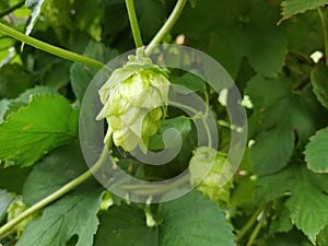
[[[223,173],[225,161],[223,153],[212,148],[201,147],[194,152],[194,156],[189,162],[191,185],[197,184],[198,190],[222,207],[229,203],[230,190],[233,187],[232,180],[224,186],[220,184],[225,175]],[[210,171],[204,176],[204,172],[208,169]]]

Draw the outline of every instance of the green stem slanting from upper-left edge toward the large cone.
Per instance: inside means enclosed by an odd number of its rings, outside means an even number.
[[[75,62],[81,62],[81,63],[84,63],[86,66],[90,66],[90,67],[98,69],[98,70],[101,70],[104,67],[104,65],[97,60],[94,60],[90,57],[81,56],[79,54],[75,54],[75,52],[72,52],[72,51],[69,51],[69,50],[66,50],[62,48],[58,48],[58,47],[49,45],[49,44],[46,44],[36,38],[33,38],[25,34],[22,34],[22,33],[15,31],[14,28],[3,25],[2,23],[0,23],[0,32],[2,32],[5,35],[11,36],[17,40],[26,43],[27,45],[31,45],[35,48],[42,49],[42,50],[52,54],[55,56],[61,57],[63,59],[75,61]]]

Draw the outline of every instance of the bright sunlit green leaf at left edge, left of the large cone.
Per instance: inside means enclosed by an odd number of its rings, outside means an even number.
[[[77,138],[78,112],[59,95],[35,95],[26,107],[0,124],[0,160],[30,166]]]

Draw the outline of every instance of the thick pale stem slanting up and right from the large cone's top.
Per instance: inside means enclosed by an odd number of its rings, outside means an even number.
[[[154,36],[154,38],[151,40],[151,43],[145,48],[145,54],[150,55],[152,50],[154,49],[154,46],[160,44],[161,40],[167,35],[167,33],[172,30],[174,24],[177,22],[178,17],[183,13],[184,7],[186,4],[187,0],[177,0],[176,5],[174,7],[171,15],[168,16],[165,24],[162,26],[162,28],[157,32],[157,34]]]

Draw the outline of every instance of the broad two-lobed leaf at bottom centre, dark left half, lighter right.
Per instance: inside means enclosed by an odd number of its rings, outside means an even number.
[[[95,246],[235,245],[224,212],[198,191],[162,204],[162,223],[148,227],[133,206],[112,208],[101,216]]]

